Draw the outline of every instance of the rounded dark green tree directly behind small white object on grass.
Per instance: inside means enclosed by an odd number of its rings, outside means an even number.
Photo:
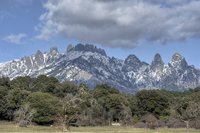
[[[103,118],[109,123],[111,121],[125,120],[122,116],[128,116],[125,111],[129,111],[127,99],[115,88],[106,84],[97,85],[93,91],[93,97],[103,107]],[[127,107],[129,109],[127,109]],[[131,115],[129,115],[131,117]],[[127,118],[126,118],[127,119]]]

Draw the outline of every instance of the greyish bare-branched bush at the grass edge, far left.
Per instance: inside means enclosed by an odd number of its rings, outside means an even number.
[[[32,122],[32,118],[35,113],[36,110],[31,109],[30,105],[26,103],[14,113],[15,121],[20,127],[27,127]]]

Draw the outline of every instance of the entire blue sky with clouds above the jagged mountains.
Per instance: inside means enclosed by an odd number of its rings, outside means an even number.
[[[200,0],[1,0],[0,62],[69,43],[165,63],[178,52],[200,68]]]

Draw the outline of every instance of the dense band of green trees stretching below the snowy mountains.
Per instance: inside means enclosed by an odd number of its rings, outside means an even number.
[[[200,88],[185,92],[141,90],[122,93],[106,84],[85,84],[37,78],[0,78],[0,120],[29,124],[108,126],[114,122],[141,128],[200,128]]]

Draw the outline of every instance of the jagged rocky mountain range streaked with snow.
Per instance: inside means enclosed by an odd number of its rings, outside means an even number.
[[[175,53],[168,64],[156,54],[151,64],[135,55],[125,60],[107,56],[90,44],[68,45],[65,53],[56,47],[50,52],[37,51],[31,56],[0,63],[0,76],[47,75],[60,82],[85,83],[90,88],[106,83],[122,92],[135,93],[141,89],[183,91],[200,85],[200,70],[188,65],[183,56]]]

